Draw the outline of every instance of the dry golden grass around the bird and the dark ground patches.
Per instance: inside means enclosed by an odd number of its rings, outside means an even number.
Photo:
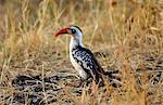
[[[101,88],[96,96],[90,96],[86,87],[82,96],[68,91],[65,96],[75,105],[163,105],[163,83],[150,90],[147,79],[149,67],[154,70],[152,74],[158,70],[156,65],[163,70],[163,1],[4,1],[0,5],[1,94],[12,95],[11,80],[17,74],[45,76],[53,70],[74,69],[68,61],[70,37],[52,38],[61,27],[74,24],[82,27],[88,48],[109,54],[99,61],[104,68],[122,71],[123,87]],[[153,62],[148,61],[151,57]],[[142,70],[141,88],[137,69]]]

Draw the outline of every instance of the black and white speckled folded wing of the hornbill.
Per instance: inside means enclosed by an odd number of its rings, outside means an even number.
[[[99,81],[100,74],[103,69],[95,58],[90,50],[82,47],[77,47],[72,51],[74,60],[80,65],[80,67],[90,75],[96,82]]]

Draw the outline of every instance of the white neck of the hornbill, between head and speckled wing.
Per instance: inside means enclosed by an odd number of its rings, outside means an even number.
[[[77,47],[84,47],[83,40],[82,39],[75,39],[74,37],[71,38],[71,43],[70,43],[70,51]]]

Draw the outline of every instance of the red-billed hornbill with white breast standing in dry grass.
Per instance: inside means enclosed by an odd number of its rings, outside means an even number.
[[[70,60],[72,65],[78,71],[83,79],[92,78],[96,83],[106,73],[102,69],[90,50],[83,44],[83,31],[77,26],[63,28],[55,36],[68,34],[72,35],[70,43]]]

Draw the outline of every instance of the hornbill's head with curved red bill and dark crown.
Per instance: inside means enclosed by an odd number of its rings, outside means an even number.
[[[58,36],[63,35],[63,34],[72,35],[72,37],[74,39],[78,39],[78,40],[80,40],[83,38],[82,29],[78,26],[74,26],[74,25],[66,27],[66,28],[62,28],[54,36],[58,37]]]

